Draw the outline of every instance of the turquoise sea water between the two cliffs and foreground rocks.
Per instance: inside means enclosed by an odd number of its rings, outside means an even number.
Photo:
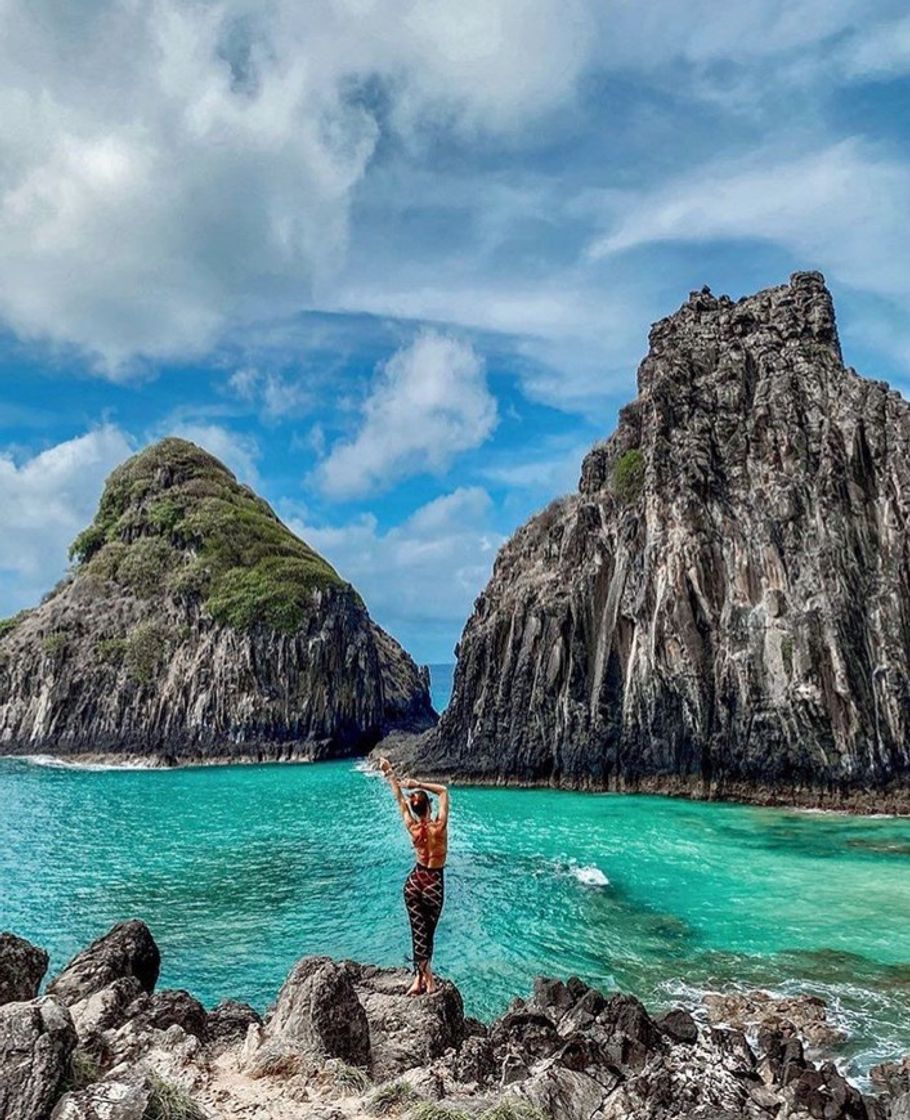
[[[141,916],[161,982],[264,1007],[294,961],[401,963],[408,839],[355,764],[90,772],[0,762],[0,927],[53,968]],[[910,1052],[910,821],[548,790],[454,792],[438,967],[490,1016],[535,973],[652,1007],[800,987],[853,1067]]]

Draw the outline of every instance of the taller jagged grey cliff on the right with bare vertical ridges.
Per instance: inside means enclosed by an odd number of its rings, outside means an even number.
[[[910,809],[910,404],[824,278],[654,325],[577,494],[500,552],[410,762],[482,781]]]

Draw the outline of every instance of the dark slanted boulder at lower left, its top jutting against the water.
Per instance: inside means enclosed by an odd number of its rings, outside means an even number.
[[[145,922],[120,922],[77,953],[48,984],[47,991],[64,1004],[76,1004],[114,980],[134,977],[143,991],[158,981],[161,954]]]

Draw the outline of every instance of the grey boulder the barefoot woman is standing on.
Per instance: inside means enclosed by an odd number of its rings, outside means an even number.
[[[412,976],[403,969],[360,967],[355,992],[370,1033],[370,1072],[375,1081],[427,1065],[466,1035],[458,989],[442,981],[431,996],[405,992]]]

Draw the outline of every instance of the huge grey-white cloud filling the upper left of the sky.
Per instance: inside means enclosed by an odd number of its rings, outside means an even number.
[[[570,95],[588,8],[9,0],[0,314],[123,373],[318,302],[381,128],[517,128]]]

